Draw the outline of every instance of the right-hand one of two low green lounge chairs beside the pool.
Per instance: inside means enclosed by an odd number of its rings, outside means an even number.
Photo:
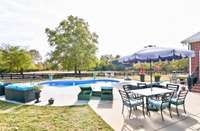
[[[113,100],[113,87],[111,86],[101,87],[101,100]]]

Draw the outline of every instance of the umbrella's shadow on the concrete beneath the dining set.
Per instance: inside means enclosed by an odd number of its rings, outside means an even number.
[[[169,116],[168,111],[164,111],[165,120],[162,121],[160,112],[151,112],[151,116],[144,117],[141,110],[132,113],[131,119],[128,118],[128,113],[125,113],[122,131],[132,130],[174,130],[182,131],[198,124],[198,120],[191,117],[189,114],[181,114],[177,117],[173,113],[173,118]]]

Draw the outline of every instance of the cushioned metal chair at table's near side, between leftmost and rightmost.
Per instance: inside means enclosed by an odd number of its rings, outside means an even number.
[[[162,120],[164,120],[163,110],[168,108],[170,117],[172,118],[171,106],[170,106],[170,100],[171,100],[172,95],[173,95],[173,93],[166,93],[166,94],[161,96],[160,100],[149,98],[148,99],[148,108],[154,108],[154,109],[160,110]]]

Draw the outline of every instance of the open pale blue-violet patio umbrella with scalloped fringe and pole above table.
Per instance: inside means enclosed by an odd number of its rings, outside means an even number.
[[[192,56],[194,56],[194,52],[191,50],[162,48],[149,45],[132,55],[120,58],[119,62],[122,63],[149,62],[151,70],[152,62],[178,60]],[[152,83],[152,70],[150,72],[150,76]]]

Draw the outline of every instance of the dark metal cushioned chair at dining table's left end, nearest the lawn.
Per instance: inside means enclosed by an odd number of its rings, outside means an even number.
[[[119,93],[121,95],[122,102],[123,102],[122,113],[124,112],[124,106],[129,107],[129,119],[130,119],[132,110],[137,109],[137,106],[142,106],[142,112],[143,112],[143,115],[145,116],[143,97],[137,97],[137,95],[130,96],[129,93],[123,90],[119,90]]]

